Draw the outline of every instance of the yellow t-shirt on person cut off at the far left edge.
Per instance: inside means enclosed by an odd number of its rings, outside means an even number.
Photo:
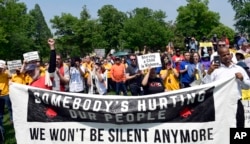
[[[0,73],[0,96],[9,94],[9,74],[8,71]]]

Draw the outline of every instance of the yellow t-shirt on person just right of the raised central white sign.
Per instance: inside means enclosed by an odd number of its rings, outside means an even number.
[[[168,72],[167,77],[163,80],[163,84],[165,89],[169,91],[180,89],[179,80],[174,76],[173,71],[177,72],[176,69],[160,71],[160,75],[166,75],[166,73]]]

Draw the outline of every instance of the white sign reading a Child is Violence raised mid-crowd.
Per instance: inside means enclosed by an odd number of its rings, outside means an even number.
[[[148,67],[156,68],[161,67],[161,57],[159,53],[150,53],[141,56],[137,56],[137,62],[139,70],[145,70]]]

